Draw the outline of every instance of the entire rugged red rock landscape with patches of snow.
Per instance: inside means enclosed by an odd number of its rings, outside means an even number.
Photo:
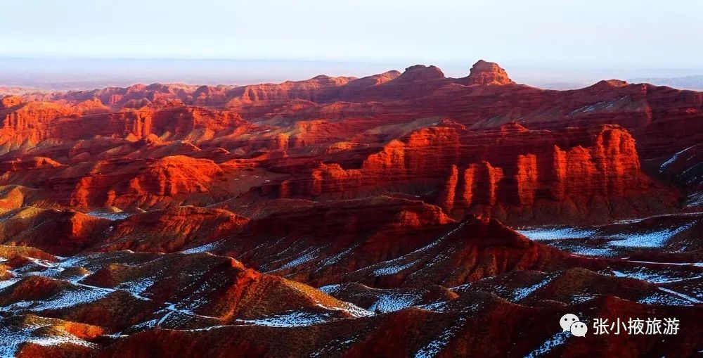
[[[702,110],[484,60],[0,96],[0,356],[695,356]]]

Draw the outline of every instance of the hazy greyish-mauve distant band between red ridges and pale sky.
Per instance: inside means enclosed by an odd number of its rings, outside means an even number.
[[[703,75],[696,68],[597,68],[579,64],[530,65],[496,62],[520,84],[542,89],[579,89],[603,79],[647,79],[657,85],[702,90],[703,81],[682,84],[671,79]],[[301,81],[317,75],[330,77],[367,77],[415,64],[436,65],[446,77],[462,78],[479,58],[467,61],[439,60],[330,60],[303,58],[90,58],[49,56],[1,56],[0,85],[33,91],[89,91],[105,87],[129,87],[134,84],[188,84],[245,86],[247,84]],[[651,79],[662,79],[652,81]],[[667,82],[668,81],[668,82]],[[666,82],[666,83],[665,83]]]

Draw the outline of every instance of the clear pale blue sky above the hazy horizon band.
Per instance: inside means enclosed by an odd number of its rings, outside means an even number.
[[[700,68],[703,1],[5,1],[1,57]]]

